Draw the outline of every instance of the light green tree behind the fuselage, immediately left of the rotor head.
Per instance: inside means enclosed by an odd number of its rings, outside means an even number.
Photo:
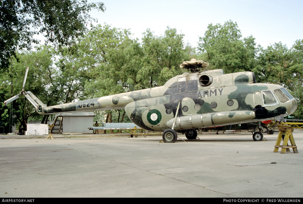
[[[143,58],[137,79],[142,87],[162,86],[173,76],[181,74],[180,64],[190,60],[192,54],[186,50],[184,34],[178,34],[175,28],[165,30],[164,36],[155,36],[150,29],[143,33]]]

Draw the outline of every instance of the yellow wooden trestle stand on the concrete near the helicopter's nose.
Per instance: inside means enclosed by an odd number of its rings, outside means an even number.
[[[281,144],[281,140],[283,139],[283,143]],[[288,139],[290,140],[291,146],[288,146]],[[276,141],[274,152],[278,152],[279,147],[281,148],[281,154],[285,154],[285,152],[290,152],[289,148],[292,148],[294,153],[298,153],[298,149],[295,143],[294,136],[291,133],[291,128],[280,128],[278,138]]]

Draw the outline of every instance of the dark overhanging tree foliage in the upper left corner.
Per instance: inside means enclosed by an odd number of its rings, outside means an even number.
[[[39,42],[35,34],[57,47],[73,44],[95,21],[88,15],[92,9],[105,11],[102,2],[86,0],[0,0],[0,71],[8,69],[10,57],[17,58],[16,50]]]

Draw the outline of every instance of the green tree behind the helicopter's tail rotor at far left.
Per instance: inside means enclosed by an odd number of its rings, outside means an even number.
[[[29,67],[26,79],[25,91],[33,92],[42,102],[47,105],[55,105],[58,102],[55,88],[52,87],[52,81],[55,80],[56,69],[53,66],[53,50],[50,47],[40,47],[37,51],[24,51],[18,54],[19,62],[12,60],[12,69],[3,73],[2,90],[5,92],[4,99],[18,94],[22,89],[23,79],[26,67]],[[26,127],[28,118],[41,118],[35,112],[32,104],[28,100],[20,96],[19,99],[12,102],[15,122],[19,122],[19,128]],[[5,108],[9,108],[6,106]],[[4,108],[4,109],[5,109]],[[8,110],[4,112],[7,117]]]

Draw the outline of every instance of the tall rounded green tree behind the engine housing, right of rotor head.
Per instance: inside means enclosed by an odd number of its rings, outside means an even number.
[[[255,38],[241,40],[237,23],[229,20],[221,24],[209,24],[203,37],[199,37],[198,50],[206,53],[212,69],[223,69],[225,73],[254,71],[256,69]]]

